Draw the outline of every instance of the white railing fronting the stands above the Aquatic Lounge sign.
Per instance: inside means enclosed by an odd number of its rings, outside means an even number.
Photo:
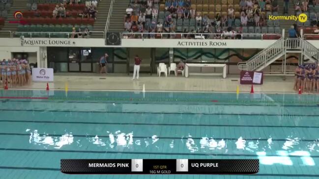
[[[13,34],[17,34],[17,35],[24,35],[25,38],[44,38],[44,37],[36,37],[35,35],[37,35],[37,34],[48,35],[49,36],[48,38],[57,38],[57,37],[52,37],[52,36],[54,36],[56,34],[66,34],[67,37],[63,37],[63,38],[72,38],[72,34],[74,34],[74,36],[76,36],[78,34],[81,34],[82,38],[91,38],[92,33],[102,33],[103,37],[105,38],[105,33],[103,31],[89,31],[89,32],[12,32],[12,33]],[[84,36],[84,34],[85,34],[85,36]]]

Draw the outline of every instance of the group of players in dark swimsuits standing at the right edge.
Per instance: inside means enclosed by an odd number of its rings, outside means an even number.
[[[294,72],[293,89],[304,92],[319,93],[319,66],[318,64],[299,65]]]

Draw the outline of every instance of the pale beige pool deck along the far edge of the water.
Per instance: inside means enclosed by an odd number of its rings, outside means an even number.
[[[55,73],[54,82],[49,83],[50,90],[121,90],[140,91],[145,84],[145,91],[199,91],[199,92],[236,92],[249,93],[251,85],[240,85],[239,75],[190,76],[174,75],[158,77],[141,74],[139,80],[132,80],[127,74],[94,73]],[[254,85],[255,93],[297,93],[292,89],[293,77],[264,76],[263,85]],[[32,82],[29,86],[17,86],[9,89],[46,89],[45,82]]]

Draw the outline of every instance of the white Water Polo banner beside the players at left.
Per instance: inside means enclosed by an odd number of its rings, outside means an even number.
[[[53,81],[53,68],[32,68],[32,81]]]

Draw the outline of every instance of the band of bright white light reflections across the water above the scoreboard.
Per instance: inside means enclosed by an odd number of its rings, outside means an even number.
[[[26,129],[26,131],[31,131],[29,135],[29,143],[35,144],[35,145],[43,145],[45,149],[48,148],[48,146],[53,146],[56,149],[61,149],[65,145],[71,145],[73,143],[74,137],[72,135],[72,132],[67,132],[61,136],[50,136],[50,134],[43,134],[40,135],[38,133],[38,130],[31,130]],[[160,141],[160,137],[158,135],[152,135],[149,138],[144,138],[144,144],[141,142],[141,140],[134,140],[133,132],[130,133],[124,133],[120,130],[117,130],[114,132],[114,134],[110,131],[107,131],[108,138],[99,137],[98,135],[95,135],[94,137],[87,137],[87,141],[89,141],[91,144],[104,147],[105,149],[108,149],[108,146],[112,148],[131,148],[135,144],[135,146],[142,146],[145,145],[145,148],[148,146],[153,146],[157,148],[158,150],[165,149],[165,143],[163,145],[159,145],[158,147],[156,144]],[[87,134],[88,135],[88,134]],[[163,143],[162,141],[161,143]],[[293,162],[290,159],[291,156],[299,157],[300,161],[302,161],[303,165],[310,165],[314,166],[316,165],[315,161],[311,157],[312,151],[317,151],[319,147],[318,140],[309,142],[307,144],[306,149],[309,149],[308,151],[291,151],[296,145],[299,145],[300,138],[295,137],[292,138],[291,136],[288,136],[286,138],[286,141],[282,145],[283,150],[276,151],[276,156],[274,156],[273,152],[269,153],[267,155],[267,148],[272,149],[271,146],[274,144],[272,137],[268,138],[264,143],[261,144],[261,149],[259,148],[260,141],[247,141],[243,137],[239,137],[236,141],[225,141],[224,139],[221,140],[215,140],[212,137],[202,137],[200,139],[195,139],[192,137],[192,135],[188,135],[188,137],[185,139],[183,136],[181,137],[181,142],[184,146],[187,148],[187,150],[191,153],[195,152],[207,152],[205,149],[208,150],[222,150],[222,153],[227,153],[229,149],[227,149],[227,145],[231,145],[229,147],[230,149],[234,149],[234,145],[236,146],[237,150],[241,151],[247,151],[247,152],[254,152],[257,154],[258,158],[260,159],[260,163],[264,165],[273,165],[273,164],[282,164],[282,165],[292,165]],[[76,141],[76,144],[78,147],[82,147],[81,140],[78,139]],[[198,144],[200,145],[200,148],[198,147]],[[175,147],[175,141],[172,140],[168,143],[168,147],[173,149]],[[278,145],[278,144],[277,144]],[[233,147],[232,147],[233,146]],[[279,148],[280,148],[279,144]],[[150,149],[152,150],[152,149]],[[260,151],[263,150],[263,151]],[[235,152],[235,151],[234,151]]]

